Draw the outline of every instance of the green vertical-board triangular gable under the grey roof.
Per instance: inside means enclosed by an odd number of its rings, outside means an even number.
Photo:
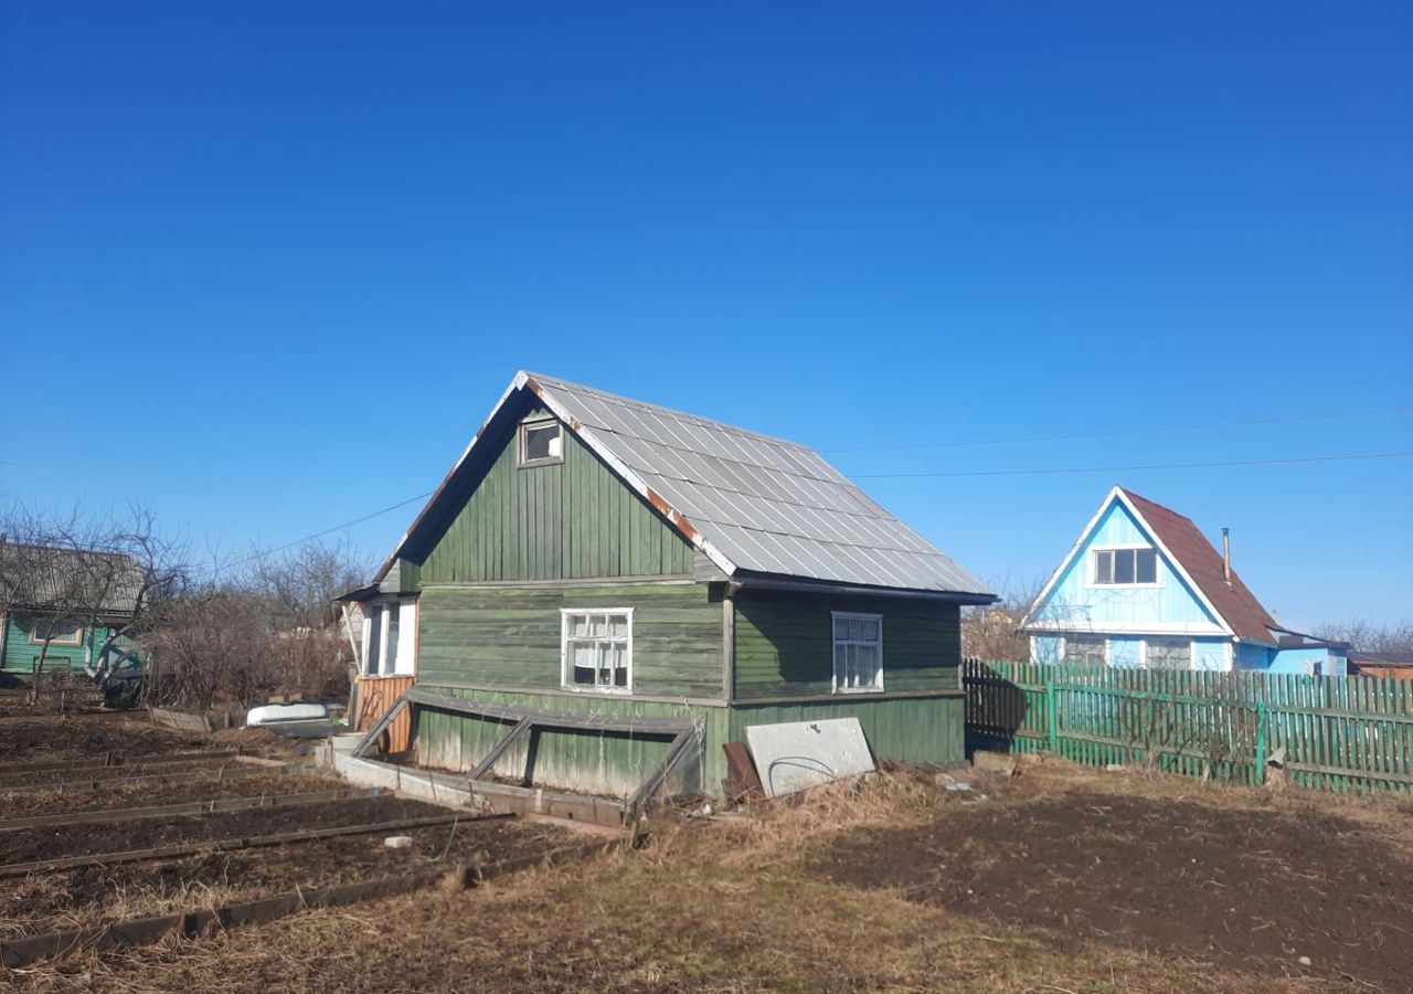
[[[422,583],[688,575],[692,546],[574,434],[564,462],[499,455],[421,564]]]

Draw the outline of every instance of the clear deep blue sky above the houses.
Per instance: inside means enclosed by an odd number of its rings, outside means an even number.
[[[0,489],[287,542],[517,368],[821,450],[1413,406],[1407,4],[681,7],[4,0]],[[1413,460],[862,476],[1407,450],[834,458],[995,583],[1121,482],[1314,625],[1409,615]]]

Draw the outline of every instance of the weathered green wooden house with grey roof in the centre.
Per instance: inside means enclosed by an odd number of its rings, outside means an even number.
[[[961,759],[959,609],[995,601],[804,445],[524,372],[365,591],[421,689],[690,717],[678,789],[705,793],[753,724],[853,715],[879,758]],[[466,771],[504,731],[424,708],[413,745]],[[567,730],[502,764],[625,796],[666,748]]]

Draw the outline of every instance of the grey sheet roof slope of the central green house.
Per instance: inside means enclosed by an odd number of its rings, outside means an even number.
[[[738,570],[991,594],[805,445],[554,376],[523,378]]]

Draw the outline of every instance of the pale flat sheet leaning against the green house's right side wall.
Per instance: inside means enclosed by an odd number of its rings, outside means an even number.
[[[747,725],[746,744],[767,797],[875,769],[858,718]]]

